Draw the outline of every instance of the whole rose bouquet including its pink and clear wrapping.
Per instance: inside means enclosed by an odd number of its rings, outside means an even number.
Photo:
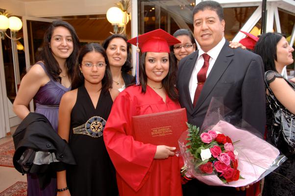
[[[259,181],[286,160],[248,123],[234,122],[238,119],[234,115],[222,100],[212,98],[201,129],[188,124],[178,140],[184,177],[212,186],[241,187]]]

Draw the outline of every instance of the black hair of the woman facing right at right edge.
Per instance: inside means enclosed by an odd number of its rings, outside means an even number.
[[[265,33],[259,37],[258,42],[255,45],[254,52],[261,56],[264,71],[275,71],[276,45],[284,36],[280,33]]]

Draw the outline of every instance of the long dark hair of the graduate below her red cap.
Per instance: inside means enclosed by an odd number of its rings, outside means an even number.
[[[139,64],[139,81],[142,85],[142,93],[146,93],[147,82],[148,82],[148,76],[146,73],[146,55],[147,55],[147,52],[142,53],[140,64]],[[172,56],[169,55],[169,71],[166,77],[162,80],[162,85],[168,97],[171,98],[173,101],[178,101],[178,94],[175,89],[175,84],[176,84],[176,72],[174,70],[175,66],[176,66],[176,62],[173,60]]]

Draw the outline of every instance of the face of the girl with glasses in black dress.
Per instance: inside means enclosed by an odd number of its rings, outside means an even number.
[[[104,65],[100,67],[95,66],[101,63]],[[90,64],[94,66],[89,66]],[[80,71],[82,71],[82,74],[85,78],[85,83],[101,83],[101,80],[105,73],[105,60],[102,54],[96,51],[86,53],[82,58]]]

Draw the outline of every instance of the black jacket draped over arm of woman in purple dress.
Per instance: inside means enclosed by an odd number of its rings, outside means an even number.
[[[30,112],[13,134],[15,153],[13,165],[21,173],[36,173],[40,188],[49,184],[56,172],[63,171],[67,165],[75,165],[74,156],[68,143],[55,132],[48,119],[35,112]],[[56,160],[35,164],[34,159],[44,159],[42,154],[49,152]],[[37,156],[37,157],[36,157]]]

